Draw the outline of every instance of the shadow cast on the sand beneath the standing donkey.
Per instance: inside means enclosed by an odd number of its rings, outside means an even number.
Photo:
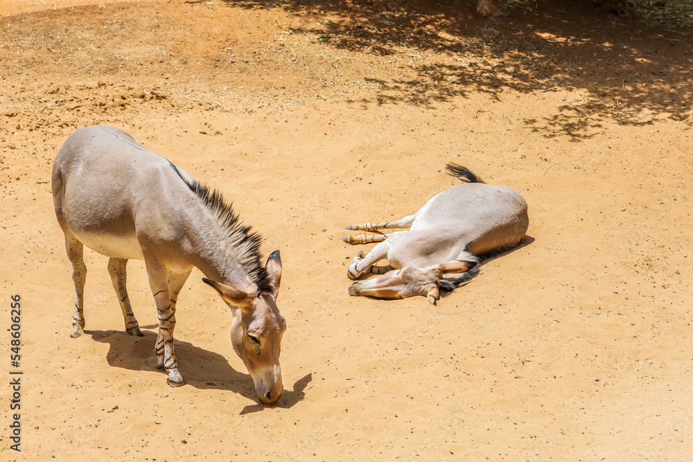
[[[102,344],[109,345],[106,360],[110,366],[121,367],[130,371],[156,371],[166,376],[168,373],[157,369],[157,358],[154,353],[157,333],[144,330],[156,327],[141,326],[144,337],[133,337],[120,330],[85,330],[85,334]],[[201,390],[231,391],[258,402],[252,377],[249,374],[236,371],[229,365],[224,356],[178,339],[173,340],[173,345],[178,368],[185,377],[186,385]],[[294,384],[294,390],[284,390],[283,396],[274,406],[292,407],[302,400],[305,396],[304,389],[310,380],[310,374],[299,379]],[[161,384],[164,385],[163,380]],[[250,407],[257,407],[256,411],[259,411],[264,409],[266,405],[258,403]],[[242,414],[247,414],[247,412]]]

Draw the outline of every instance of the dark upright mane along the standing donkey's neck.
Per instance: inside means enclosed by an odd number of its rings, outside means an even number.
[[[186,184],[188,184],[187,181]],[[258,290],[269,292],[270,284],[267,281],[267,272],[265,272],[263,256],[260,253],[262,236],[252,231],[250,226],[240,222],[231,203],[226,202],[218,190],[203,186],[195,180],[188,186],[202,199],[204,205],[214,212],[219,224],[226,231],[227,245],[237,249],[238,263],[250,275],[252,281],[258,286]]]

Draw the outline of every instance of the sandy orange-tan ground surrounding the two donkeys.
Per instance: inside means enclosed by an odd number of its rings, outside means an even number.
[[[498,21],[474,4],[1,0],[0,459],[687,459],[691,35],[581,3]],[[70,338],[50,171],[94,124],[220,188],[281,250],[278,405],[258,404],[196,270],[185,387],[155,368],[142,262],[128,287],[146,336],[125,334],[107,259],[86,251]],[[449,161],[523,194],[522,245],[437,306],[350,297],[343,226],[413,213],[455,184]]]

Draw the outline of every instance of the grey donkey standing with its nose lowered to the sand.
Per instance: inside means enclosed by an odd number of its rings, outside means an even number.
[[[85,326],[83,245],[109,256],[108,272],[130,335],[142,336],[125,290],[125,265],[144,260],[159,317],[157,368],[184,384],[173,353],[178,294],[193,267],[234,314],[231,343],[262,402],[283,393],[279,349],[286,322],[277,308],[279,251],[261,264],[261,237],[243,226],[217,190],[114,127],[86,127],[53,163],[53,204],[76,289],[74,332]]]

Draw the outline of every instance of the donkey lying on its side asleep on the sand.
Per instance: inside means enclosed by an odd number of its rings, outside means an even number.
[[[342,236],[349,244],[380,242],[368,255],[353,258],[347,276],[381,274],[349,287],[350,295],[405,299],[423,295],[434,304],[439,290],[455,290],[479,271],[479,256],[511,249],[527,233],[527,202],[507,186],[492,186],[462,166],[450,175],[466,181],[430,199],[414,215],[396,222],[352,224],[350,230],[409,228],[376,236]],[[375,264],[387,258],[388,265]]]

